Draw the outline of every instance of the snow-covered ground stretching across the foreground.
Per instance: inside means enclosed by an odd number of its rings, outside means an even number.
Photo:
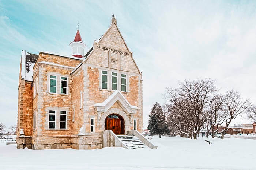
[[[256,169],[256,140],[209,138],[208,145],[181,137],[158,137],[158,149],[16,149],[0,142],[0,169]]]

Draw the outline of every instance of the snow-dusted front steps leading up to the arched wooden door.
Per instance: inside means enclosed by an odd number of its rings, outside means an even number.
[[[139,138],[137,138],[135,135],[117,135],[118,139],[120,139],[125,147],[127,148],[144,148],[145,145],[142,141],[140,141]]]

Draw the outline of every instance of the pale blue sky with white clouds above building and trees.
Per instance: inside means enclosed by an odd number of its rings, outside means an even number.
[[[165,88],[184,79],[216,79],[256,103],[256,1],[0,0],[0,122],[17,123],[22,49],[70,55],[79,21],[89,50],[113,13],[142,71],[144,128]]]

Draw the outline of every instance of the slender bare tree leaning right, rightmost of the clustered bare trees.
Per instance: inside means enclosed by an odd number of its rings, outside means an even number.
[[[225,129],[222,131],[221,139],[224,139],[224,135],[227,133],[227,128],[232,120],[236,119],[238,115],[244,112],[249,106],[249,99],[242,100],[238,91],[227,91],[225,95],[225,112],[227,114],[225,120]]]

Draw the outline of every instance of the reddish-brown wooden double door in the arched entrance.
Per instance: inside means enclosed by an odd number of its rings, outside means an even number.
[[[118,114],[110,114],[105,119],[105,130],[112,130],[114,134],[124,134],[124,119]]]

